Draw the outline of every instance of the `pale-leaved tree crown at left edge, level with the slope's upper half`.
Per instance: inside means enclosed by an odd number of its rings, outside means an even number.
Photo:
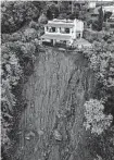
[[[2,45],[2,76],[4,79],[8,79],[12,85],[16,85],[20,79],[22,70],[20,66],[18,59],[14,51],[11,51],[5,45]]]

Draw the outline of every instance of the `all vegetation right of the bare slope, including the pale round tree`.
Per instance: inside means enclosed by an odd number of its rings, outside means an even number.
[[[84,51],[97,76],[93,99],[85,103],[86,130],[91,131],[94,151],[103,160],[114,159],[114,35],[93,41],[92,51]],[[97,140],[98,139],[98,140]]]

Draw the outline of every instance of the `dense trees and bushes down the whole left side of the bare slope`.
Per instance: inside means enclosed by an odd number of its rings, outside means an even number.
[[[24,109],[21,88],[31,73],[36,53],[38,54],[39,51],[38,38],[42,30],[41,23],[43,23],[43,21],[39,23],[41,8],[42,2],[3,2],[1,4],[2,153],[8,152],[14,143],[10,133],[15,125],[15,111]],[[18,101],[20,98],[22,102]]]

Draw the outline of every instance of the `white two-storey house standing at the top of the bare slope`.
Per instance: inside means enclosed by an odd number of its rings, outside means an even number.
[[[75,39],[83,37],[84,23],[79,20],[56,20],[49,21],[45,25],[45,34],[41,41],[50,41],[53,45],[64,42],[71,46]]]

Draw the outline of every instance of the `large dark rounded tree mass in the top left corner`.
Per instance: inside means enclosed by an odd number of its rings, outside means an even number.
[[[40,3],[40,2],[39,2]],[[39,17],[39,5],[33,2],[10,1],[2,2],[1,5],[1,30],[2,33],[12,33],[21,28],[26,22]]]

